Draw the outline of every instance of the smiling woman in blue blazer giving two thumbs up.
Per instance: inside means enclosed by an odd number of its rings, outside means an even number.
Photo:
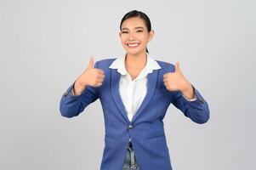
[[[143,12],[125,14],[119,33],[126,53],[101,59],[77,77],[60,100],[60,113],[78,116],[100,99],[105,118],[101,170],[172,169],[163,118],[173,104],[193,122],[209,119],[208,103],[191,85],[179,63],[152,59],[147,43],[154,37]]]

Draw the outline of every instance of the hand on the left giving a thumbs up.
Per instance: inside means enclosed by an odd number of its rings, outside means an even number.
[[[100,87],[104,81],[104,71],[94,68],[94,58],[91,56],[85,71],[77,78],[74,85],[75,94],[81,94],[86,86]]]

